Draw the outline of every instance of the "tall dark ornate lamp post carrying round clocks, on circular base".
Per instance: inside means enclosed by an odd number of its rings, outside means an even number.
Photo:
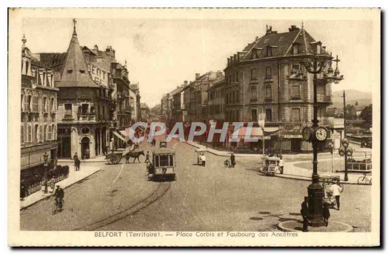
[[[314,93],[314,110],[313,110],[313,119],[312,126],[305,127],[303,129],[303,137],[305,140],[308,140],[312,143],[313,148],[313,173],[312,173],[312,183],[307,187],[308,192],[308,219],[311,222],[311,226],[322,226],[322,208],[323,208],[323,187],[319,184],[319,175],[318,175],[318,143],[324,142],[327,138],[327,129],[325,127],[320,127],[318,125],[318,100],[317,100],[317,82],[318,74],[324,72],[326,65],[329,63],[329,68],[327,74],[324,75],[324,79],[328,82],[334,81],[338,83],[342,77],[338,77],[339,71],[338,68],[336,72],[333,73],[331,67],[331,60],[327,55],[317,55],[309,57],[308,59],[302,61],[301,63],[305,66],[308,73],[313,74],[313,93]]]

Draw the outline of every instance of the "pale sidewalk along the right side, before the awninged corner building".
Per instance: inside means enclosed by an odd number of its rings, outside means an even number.
[[[201,144],[198,144],[195,142],[186,141],[185,143],[190,144],[190,145],[197,147],[197,148],[206,148],[205,145],[201,145]],[[229,151],[217,151],[217,150],[209,148],[209,147],[206,149],[208,149],[208,151],[210,153],[217,155],[217,156],[230,157],[230,153],[231,153]],[[330,154],[330,153],[329,152],[328,153],[320,153],[320,155],[325,155],[325,154]],[[234,154],[234,156],[235,157],[260,158],[260,159],[262,158],[261,154]],[[285,158],[285,159],[287,159],[287,158],[294,159],[294,158],[298,158],[298,157],[306,157],[306,154],[300,154],[300,155],[283,154],[283,158]],[[331,159],[322,159],[322,160],[331,160]],[[295,179],[295,180],[311,181],[312,170],[300,168],[300,167],[297,167],[294,165],[296,163],[303,163],[303,162],[311,162],[311,160],[299,160],[299,161],[284,162],[285,174],[283,174],[283,175],[276,174],[275,176],[289,178],[289,179]],[[348,174],[348,181],[344,182],[343,181],[344,175],[345,175],[344,173],[334,173],[334,174],[339,175],[341,182],[343,184],[357,184],[357,179],[358,179],[358,177],[361,176],[359,174]],[[321,175],[327,175],[327,174],[321,174]]]

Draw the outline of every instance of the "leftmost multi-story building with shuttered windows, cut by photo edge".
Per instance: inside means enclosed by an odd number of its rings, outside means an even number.
[[[57,158],[57,93],[54,71],[32,56],[23,35],[21,63],[21,178],[43,175],[44,157]]]

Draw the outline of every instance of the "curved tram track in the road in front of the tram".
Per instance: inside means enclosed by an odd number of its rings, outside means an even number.
[[[101,228],[103,226],[122,220],[129,215],[133,215],[139,210],[144,209],[147,206],[154,203],[155,201],[159,200],[170,189],[170,186],[171,186],[171,182],[161,182],[158,184],[158,187],[156,188],[155,191],[153,191],[146,198],[140,200],[133,206],[130,206],[124,209],[123,211],[114,214],[113,216],[99,220],[97,222],[93,222],[86,226],[73,229],[72,231],[95,231],[95,230],[98,230],[98,228]]]

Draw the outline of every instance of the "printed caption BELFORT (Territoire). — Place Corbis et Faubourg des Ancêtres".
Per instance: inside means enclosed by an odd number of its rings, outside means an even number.
[[[94,232],[95,237],[298,237],[297,232]]]

